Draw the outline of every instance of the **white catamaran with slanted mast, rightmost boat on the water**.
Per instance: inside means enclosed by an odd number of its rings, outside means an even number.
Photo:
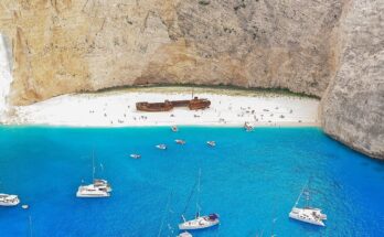
[[[305,207],[297,207],[302,194],[306,195],[307,205]],[[313,208],[309,206],[309,195],[310,195],[309,191],[308,190],[306,191],[306,188],[302,188],[299,197],[297,198],[295,203],[295,206],[289,213],[289,217],[292,219],[309,223],[312,225],[326,226],[323,220],[327,219],[327,215],[322,214],[320,208]]]

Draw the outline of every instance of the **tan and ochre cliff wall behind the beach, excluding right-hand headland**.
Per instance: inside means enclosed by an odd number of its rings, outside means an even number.
[[[153,84],[289,88],[321,96],[339,0],[2,0],[11,101]]]

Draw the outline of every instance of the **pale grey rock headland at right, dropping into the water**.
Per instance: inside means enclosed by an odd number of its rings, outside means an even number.
[[[324,131],[384,159],[384,1],[350,2],[341,19],[340,68],[322,99]]]

